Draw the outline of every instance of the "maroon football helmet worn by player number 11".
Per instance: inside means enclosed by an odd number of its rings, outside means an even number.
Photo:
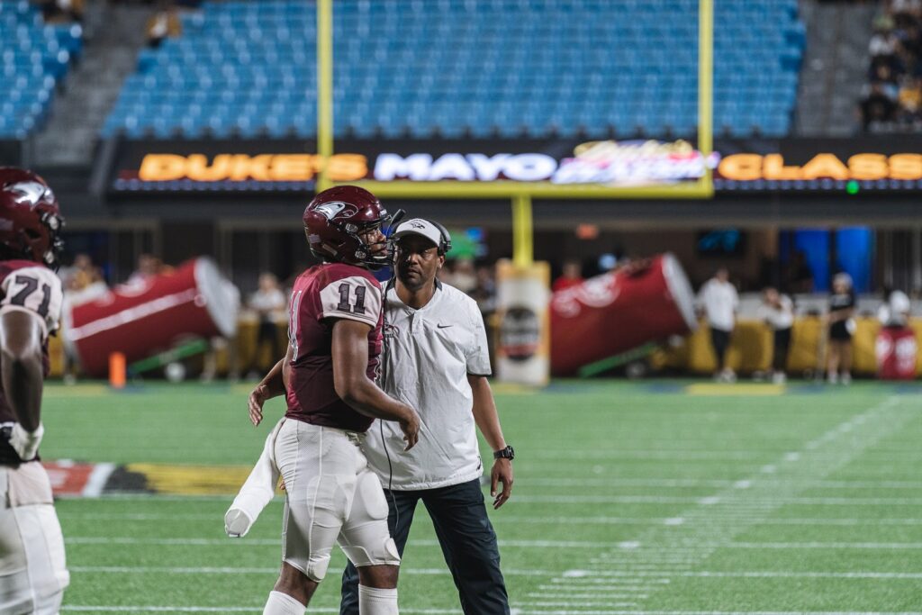
[[[390,265],[392,250],[372,253],[361,233],[390,223],[378,197],[353,185],[329,188],[304,209],[304,233],[314,256],[377,270]]]

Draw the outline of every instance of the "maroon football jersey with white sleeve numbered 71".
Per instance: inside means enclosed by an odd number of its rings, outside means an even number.
[[[10,311],[34,313],[40,318],[45,375],[48,375],[48,336],[61,320],[61,280],[46,266],[31,261],[0,261],[0,314]],[[0,426],[16,422],[0,382]],[[16,465],[18,456],[0,438],[0,465]]]

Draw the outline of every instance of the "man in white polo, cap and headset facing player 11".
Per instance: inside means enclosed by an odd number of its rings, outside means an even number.
[[[410,219],[393,235],[395,278],[384,291],[379,383],[420,413],[420,442],[404,452],[399,429],[375,420],[363,445],[384,487],[388,523],[403,555],[417,504],[429,512],[467,615],[508,615],[496,533],[480,491],[475,428],[493,450],[492,505],[513,487],[513,448],[502,437],[487,376],[487,335],[477,303],[437,278],[451,237],[431,220]],[[502,484],[502,491],[499,486]],[[341,615],[359,615],[359,575],[343,573]]]

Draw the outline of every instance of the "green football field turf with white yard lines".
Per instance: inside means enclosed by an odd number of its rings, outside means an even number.
[[[226,538],[222,522],[281,413],[274,400],[252,427],[247,392],[47,387],[44,458],[104,464],[86,491],[99,497],[57,503],[71,571],[63,613],[262,612],[281,500],[246,538]],[[922,612],[920,393],[500,388],[516,481],[491,519],[514,612]],[[343,564],[335,550],[308,612],[338,612]],[[399,591],[402,613],[461,612],[421,506]]]

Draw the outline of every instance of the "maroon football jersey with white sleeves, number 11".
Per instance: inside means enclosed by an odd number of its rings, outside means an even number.
[[[370,325],[368,377],[377,376],[384,320],[382,291],[371,273],[339,263],[313,266],[294,283],[289,306],[292,347],[288,388],[290,419],[364,432],[372,419],[337,396],[333,384],[333,325],[339,318]]]

